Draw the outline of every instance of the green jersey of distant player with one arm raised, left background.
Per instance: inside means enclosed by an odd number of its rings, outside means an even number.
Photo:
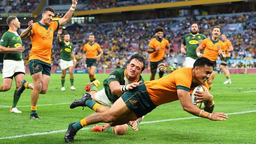
[[[59,42],[59,48],[60,48],[60,58],[64,61],[71,61],[71,53],[73,50],[73,44],[68,42],[61,41]]]

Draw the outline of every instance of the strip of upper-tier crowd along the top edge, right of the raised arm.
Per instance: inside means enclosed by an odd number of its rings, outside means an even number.
[[[160,4],[188,0],[88,0],[85,7],[80,10],[106,9],[111,7],[137,6],[147,4]]]

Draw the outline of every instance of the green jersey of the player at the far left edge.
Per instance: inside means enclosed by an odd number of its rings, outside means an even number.
[[[0,46],[4,46],[6,48],[16,48],[16,47],[22,46],[22,42],[19,34],[11,30],[6,31],[0,40]],[[22,53],[21,52],[11,52],[8,54],[5,53],[4,60],[7,60],[7,59],[21,61]]]

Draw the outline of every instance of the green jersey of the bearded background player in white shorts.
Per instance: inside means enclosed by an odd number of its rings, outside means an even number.
[[[198,59],[196,49],[198,47],[198,40],[206,39],[205,35],[188,33],[184,36],[182,44],[186,46],[186,55],[187,57],[191,57],[193,59]]]

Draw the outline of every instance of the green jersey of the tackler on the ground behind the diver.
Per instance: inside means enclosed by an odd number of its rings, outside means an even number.
[[[135,81],[129,81],[125,76],[125,72],[126,72],[126,68],[118,68],[113,72],[111,72],[109,74],[109,77],[103,81],[105,93],[108,96],[109,101],[112,103],[114,103],[120,96],[122,96],[122,94],[119,94],[119,95],[112,94],[108,86],[110,82],[118,81],[120,85],[128,85],[130,83],[138,82],[138,81],[142,81],[142,83],[144,83],[144,79],[141,77],[141,75],[139,75],[139,77],[135,79]]]

